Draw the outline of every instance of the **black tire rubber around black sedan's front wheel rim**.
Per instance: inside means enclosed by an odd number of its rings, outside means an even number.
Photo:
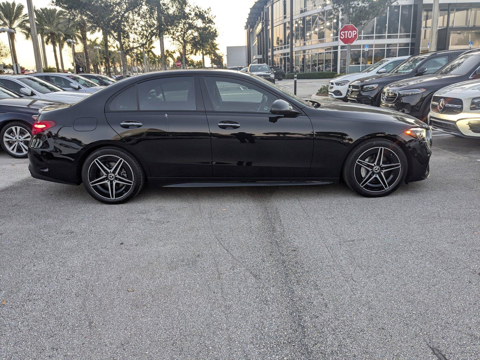
[[[386,147],[396,153],[396,155],[398,156],[398,159],[400,160],[401,172],[400,172],[400,176],[398,177],[394,185],[391,186],[388,190],[384,190],[382,192],[369,192],[362,189],[360,185],[357,183],[357,181],[355,180],[354,167],[357,159],[361,154],[363,154],[365,151],[367,151],[372,147],[378,147],[378,146]],[[402,182],[405,181],[407,172],[408,172],[408,160],[404,151],[399,145],[387,139],[371,139],[358,144],[347,156],[347,159],[345,160],[345,164],[342,171],[343,179],[347,183],[348,187],[354,190],[355,192],[359,193],[360,195],[366,196],[366,197],[381,197],[394,192],[402,184]]]

